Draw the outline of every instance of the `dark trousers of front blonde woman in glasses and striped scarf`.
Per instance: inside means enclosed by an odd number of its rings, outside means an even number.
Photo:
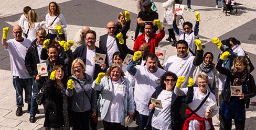
[[[71,111],[71,114],[73,119],[73,130],[77,130],[77,129],[89,130],[90,111],[86,111],[86,112]]]

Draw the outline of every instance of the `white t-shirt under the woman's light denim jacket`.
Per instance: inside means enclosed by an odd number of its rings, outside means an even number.
[[[112,98],[109,104],[108,112],[104,117],[104,121],[112,123],[120,123],[123,113],[123,89],[121,85],[121,78],[118,81],[112,82]]]

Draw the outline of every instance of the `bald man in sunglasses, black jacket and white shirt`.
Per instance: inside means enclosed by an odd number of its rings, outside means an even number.
[[[121,55],[125,57],[127,53],[133,55],[134,51],[129,49],[124,40],[123,44],[119,43],[116,34],[122,32],[123,39],[125,39],[125,34],[130,29],[130,22],[125,22],[122,29],[116,29],[116,25],[113,21],[108,22],[106,25],[107,34],[100,37],[100,49],[106,52],[106,58],[108,58],[109,66],[112,65],[113,54],[117,51],[121,52]]]

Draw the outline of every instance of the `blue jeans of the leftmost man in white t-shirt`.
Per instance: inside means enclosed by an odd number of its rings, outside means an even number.
[[[23,89],[25,90],[25,102],[30,104],[32,92],[32,78],[21,79],[18,76],[13,76],[13,86],[16,90],[16,105],[23,107]]]

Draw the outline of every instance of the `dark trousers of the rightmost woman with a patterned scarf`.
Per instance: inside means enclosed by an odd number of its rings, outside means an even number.
[[[226,119],[225,116],[222,116],[223,126],[225,130],[231,130],[232,127],[232,119]],[[234,120],[234,125],[236,126],[236,130],[244,130],[244,125],[246,124],[246,120],[244,121],[236,121]]]

